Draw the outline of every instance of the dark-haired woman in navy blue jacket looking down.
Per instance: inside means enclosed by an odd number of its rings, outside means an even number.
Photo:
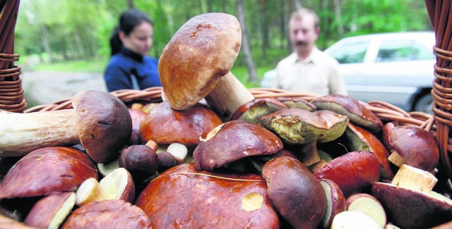
[[[122,13],[119,28],[110,38],[112,58],[104,75],[109,92],[161,86],[158,61],[147,56],[152,45],[153,21],[140,11]]]

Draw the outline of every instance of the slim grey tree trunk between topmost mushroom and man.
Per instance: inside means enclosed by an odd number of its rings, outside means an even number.
[[[249,48],[248,38],[246,36],[243,0],[237,0],[236,6],[239,23],[242,26],[242,51],[246,67],[248,68],[248,81],[257,82],[256,66],[254,66],[253,56],[251,56],[251,49]]]

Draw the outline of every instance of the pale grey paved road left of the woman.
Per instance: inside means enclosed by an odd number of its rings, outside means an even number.
[[[21,78],[28,104],[69,99],[85,89],[107,91],[100,73],[23,72]]]

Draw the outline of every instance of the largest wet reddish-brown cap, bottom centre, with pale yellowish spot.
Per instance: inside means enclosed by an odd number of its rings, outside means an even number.
[[[278,228],[266,188],[256,174],[210,173],[184,163],[152,180],[135,205],[152,228]]]

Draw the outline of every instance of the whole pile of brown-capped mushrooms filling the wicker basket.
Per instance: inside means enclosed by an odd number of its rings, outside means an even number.
[[[241,36],[226,13],[182,25],[160,57],[161,103],[83,91],[73,109],[0,111],[0,228],[452,221],[432,132],[383,123],[352,97],[254,99],[231,73]]]

